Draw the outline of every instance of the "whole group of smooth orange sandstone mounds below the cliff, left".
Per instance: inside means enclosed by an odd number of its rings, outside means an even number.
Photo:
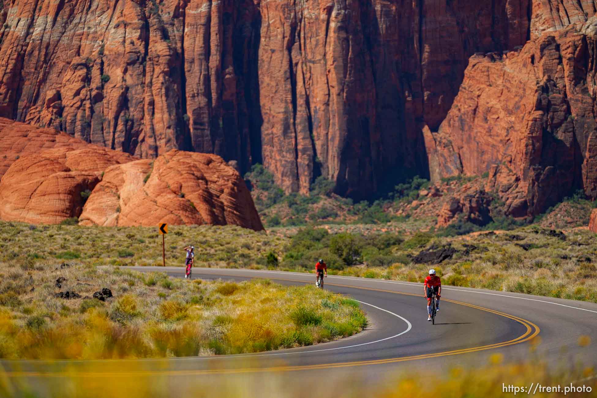
[[[53,224],[80,215],[84,225],[166,222],[263,230],[244,180],[217,155],[173,150],[155,161],[139,160],[7,119],[0,119],[0,132],[0,149],[7,153],[0,220]]]

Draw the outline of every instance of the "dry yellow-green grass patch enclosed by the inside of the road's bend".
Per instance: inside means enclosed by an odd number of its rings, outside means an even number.
[[[0,282],[4,359],[247,353],[320,343],[367,325],[355,302],[313,286],[190,281],[80,263],[23,270],[12,261],[0,263],[0,273],[9,276]],[[113,297],[91,298],[102,288]],[[81,297],[57,298],[59,291]]]

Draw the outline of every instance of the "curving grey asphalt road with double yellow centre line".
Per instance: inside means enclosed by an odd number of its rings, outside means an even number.
[[[139,271],[165,271],[182,277],[183,267],[128,267]],[[241,269],[193,269],[193,279],[267,278],[276,283],[314,283],[313,274]],[[326,375],[356,369],[371,380],[393,369],[453,365],[478,366],[493,354],[506,360],[547,359],[595,365],[597,304],[532,295],[445,286],[436,325],[427,322],[420,283],[328,276],[325,288],[349,295],[362,304],[372,325],[361,334],[312,347],[268,353],[167,360],[119,361],[3,361],[7,375],[26,378],[56,377],[64,369],[84,373],[98,362],[103,375],[166,375],[217,377],[284,371],[314,371]],[[580,347],[588,335],[592,344]],[[116,366],[118,364],[118,366]],[[129,364],[129,365],[127,365]],[[118,371],[115,371],[115,366]],[[134,369],[134,370],[133,370]],[[94,372],[97,372],[97,366]],[[213,381],[213,380],[212,380]]]

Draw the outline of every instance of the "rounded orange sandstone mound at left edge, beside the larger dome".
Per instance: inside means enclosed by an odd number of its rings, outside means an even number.
[[[106,148],[48,149],[23,156],[0,180],[0,219],[56,224],[81,214],[81,193],[93,190],[108,166],[134,158]]]

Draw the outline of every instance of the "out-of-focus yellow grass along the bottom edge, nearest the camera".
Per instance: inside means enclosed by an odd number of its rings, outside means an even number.
[[[558,392],[519,391],[516,396],[534,397],[597,397],[597,379],[593,368],[580,365],[558,368],[542,362],[501,364],[500,354],[491,356],[490,364],[474,369],[451,368],[434,372],[380,372],[374,380],[371,369],[345,368],[345,371],[325,369],[316,372],[275,372],[242,375],[182,375],[146,374],[140,365],[110,364],[110,373],[102,376],[105,364],[92,364],[85,375],[65,372],[59,377],[26,379],[0,374],[0,394],[5,397],[384,397],[384,398],[474,398],[514,397],[507,386],[561,386]],[[375,369],[375,368],[373,368]],[[369,372],[363,372],[369,370]],[[95,372],[99,374],[94,375]],[[133,375],[131,375],[133,374]],[[583,393],[564,394],[564,388],[583,388]],[[589,391],[590,390],[590,391]]]

